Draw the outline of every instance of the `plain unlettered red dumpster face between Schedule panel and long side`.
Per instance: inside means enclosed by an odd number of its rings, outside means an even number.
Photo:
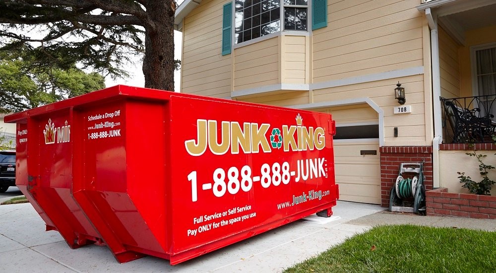
[[[136,218],[122,215],[127,232],[135,238],[136,246],[165,252],[166,185],[166,104],[165,101],[133,101],[126,103],[127,193],[139,214]],[[146,110],[146,111],[144,111]],[[152,208],[152,209],[150,209]],[[142,228],[132,225],[140,220]]]

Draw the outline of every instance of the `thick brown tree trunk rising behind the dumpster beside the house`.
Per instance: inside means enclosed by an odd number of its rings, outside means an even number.
[[[174,91],[174,0],[150,0],[146,12],[154,26],[145,27],[145,87]]]

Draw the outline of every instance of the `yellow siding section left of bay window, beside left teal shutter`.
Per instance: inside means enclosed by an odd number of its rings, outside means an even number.
[[[232,56],[221,55],[223,3],[203,0],[184,20],[183,93],[231,96]]]

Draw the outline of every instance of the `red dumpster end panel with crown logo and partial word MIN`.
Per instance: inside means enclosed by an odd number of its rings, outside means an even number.
[[[67,244],[77,248],[100,235],[72,198],[71,123],[70,109],[28,119],[28,191]]]

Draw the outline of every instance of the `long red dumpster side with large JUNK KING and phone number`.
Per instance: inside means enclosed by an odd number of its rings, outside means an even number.
[[[336,204],[330,115],[183,97],[171,107],[171,263]]]

